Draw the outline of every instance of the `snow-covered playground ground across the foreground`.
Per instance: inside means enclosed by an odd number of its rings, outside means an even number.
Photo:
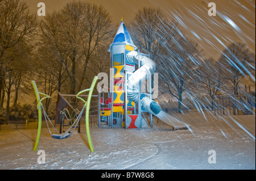
[[[90,127],[94,153],[87,144],[85,125],[64,140],[43,128],[33,151],[36,129],[0,131],[0,169],[255,169],[255,115],[214,116],[205,112],[177,115],[191,130],[171,131],[154,119],[142,130]],[[216,163],[212,158],[214,150]],[[209,154],[208,154],[209,153]],[[209,158],[210,157],[210,158]]]

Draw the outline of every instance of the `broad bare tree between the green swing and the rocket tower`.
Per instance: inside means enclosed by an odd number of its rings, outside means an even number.
[[[42,21],[42,42],[67,72],[70,94],[81,89],[90,57],[98,45],[112,36],[111,23],[104,7],[80,1],[68,3]]]

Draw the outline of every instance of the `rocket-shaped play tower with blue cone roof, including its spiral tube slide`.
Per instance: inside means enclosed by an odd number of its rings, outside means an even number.
[[[156,65],[149,56],[136,51],[138,48],[131,40],[123,20],[119,25],[113,43],[109,47],[110,52],[110,92],[108,98],[101,96],[101,111],[98,125],[106,121],[110,128],[123,127],[126,129],[141,129],[141,113],[148,112],[158,116],[167,124],[170,124],[168,114],[162,111],[158,103],[151,99],[151,94],[142,94],[141,83],[150,81]],[[173,123],[172,126],[175,127]]]

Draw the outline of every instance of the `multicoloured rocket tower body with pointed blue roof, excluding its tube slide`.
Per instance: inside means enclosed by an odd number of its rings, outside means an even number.
[[[141,96],[140,86],[135,85],[136,87],[130,89],[127,86],[129,77],[135,71],[135,62],[127,60],[127,54],[136,49],[137,47],[121,20],[113,43],[108,50],[110,52],[110,92],[108,92],[106,99],[104,98],[104,92],[100,92],[98,96],[100,103],[98,127],[103,128],[104,125],[108,125],[109,128],[142,128],[141,101],[135,104],[134,100],[127,96],[129,91],[137,94],[137,97]],[[140,67],[140,65],[138,66]],[[137,79],[139,80],[138,77]]]

